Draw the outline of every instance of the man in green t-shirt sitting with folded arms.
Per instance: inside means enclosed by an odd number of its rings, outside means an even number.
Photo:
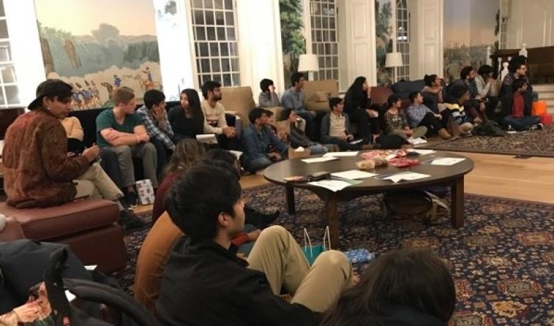
[[[158,188],[156,147],[150,142],[134,108],[133,90],[120,87],[114,93],[114,108],[108,108],[96,117],[96,142],[100,148],[116,153],[123,187],[127,190],[125,200],[129,205],[136,204],[133,157],[141,158],[145,178],[150,179],[152,187]]]

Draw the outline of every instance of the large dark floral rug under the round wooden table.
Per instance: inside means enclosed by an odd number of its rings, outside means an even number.
[[[247,189],[244,198],[256,209],[285,209],[284,190],[271,184]],[[340,249],[366,248],[377,256],[413,247],[438,253],[456,282],[452,326],[554,325],[554,205],[480,195],[465,198],[461,229],[453,229],[447,218],[431,227],[384,220],[380,195],[340,204]],[[282,213],[278,224],[298,241],[304,227],[321,240],[323,202],[309,191],[296,190],[296,215]],[[129,264],[116,277],[129,292],[146,232],[126,238]],[[355,266],[359,272],[365,267]]]

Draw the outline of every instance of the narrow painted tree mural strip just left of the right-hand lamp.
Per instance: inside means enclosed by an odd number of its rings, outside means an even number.
[[[391,0],[375,0],[375,51],[377,85],[389,85],[391,68],[385,68],[386,53],[393,51],[393,11]]]

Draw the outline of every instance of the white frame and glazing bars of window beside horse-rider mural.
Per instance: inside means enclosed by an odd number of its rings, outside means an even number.
[[[195,6],[195,3],[201,1],[202,8]],[[205,8],[204,5],[206,1],[212,2],[212,8]],[[215,8],[215,1],[222,1],[222,8]],[[227,5],[231,3],[232,11],[227,9]],[[215,80],[219,81],[222,86],[240,86],[240,60],[239,60],[239,37],[238,37],[238,20],[237,20],[237,4],[235,0],[189,0],[187,1],[187,12],[188,17],[190,17],[189,24],[189,34],[190,39],[193,40],[191,44],[191,57],[193,58],[193,73],[195,75],[194,81],[195,86],[200,88],[204,81],[206,80]],[[203,12],[204,23],[199,24],[196,22],[195,11],[201,10]],[[213,12],[213,24],[206,24],[206,11]],[[217,25],[215,21],[215,16],[217,13],[221,13],[224,19],[224,25]],[[231,13],[233,17],[233,25],[227,25],[228,14]],[[215,29],[215,39],[208,39],[208,29],[213,27]],[[204,28],[204,39],[196,39],[196,28]],[[225,39],[220,39],[218,37],[217,28],[223,28]],[[229,28],[233,29],[235,33],[235,38],[233,40],[228,40]],[[208,55],[200,55],[200,46],[201,44],[207,44]],[[228,55],[221,55],[222,44],[227,44],[227,53]],[[235,54],[231,55],[231,44],[234,44]],[[212,46],[217,45],[217,55],[212,55],[211,51],[213,50]],[[214,51],[215,52],[215,51]],[[205,54],[205,52],[203,52]],[[209,69],[204,71],[202,68],[202,60],[208,60],[207,64]],[[229,62],[229,70],[222,71],[223,64],[222,60],[227,60]],[[214,71],[215,64],[219,64],[219,71]],[[225,75],[229,75],[229,82],[226,82]]]

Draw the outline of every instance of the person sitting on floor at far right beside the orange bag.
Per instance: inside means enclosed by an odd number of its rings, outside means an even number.
[[[526,131],[529,129],[542,129],[540,117],[531,115],[531,108],[526,105],[525,93],[527,91],[527,81],[521,77],[512,81],[512,110],[511,112],[500,113],[501,122],[508,130]],[[506,106],[502,106],[505,108]]]

